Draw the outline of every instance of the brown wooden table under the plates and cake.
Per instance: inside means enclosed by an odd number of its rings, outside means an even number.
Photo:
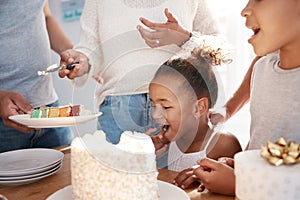
[[[44,200],[57,190],[71,184],[70,171],[70,149],[57,148],[65,153],[62,169],[47,178],[38,182],[21,186],[0,186],[0,194],[6,196],[8,200]],[[159,169],[158,179],[171,183],[177,172]],[[185,190],[192,200],[234,200],[235,197],[212,194],[207,191],[197,192],[196,188]]]

